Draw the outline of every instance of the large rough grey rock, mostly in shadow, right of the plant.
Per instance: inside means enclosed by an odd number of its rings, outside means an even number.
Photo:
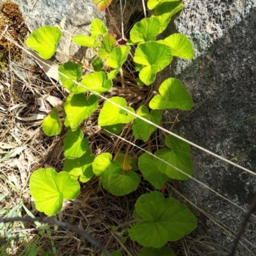
[[[164,70],[159,76],[158,84],[169,76],[177,77],[193,98],[193,109],[179,113],[182,122],[176,132],[231,159],[256,145],[256,1],[186,0],[183,4],[185,9],[167,33],[187,35],[195,47],[195,58],[174,60],[169,71]],[[173,120],[176,113],[165,111],[165,121]],[[195,179],[247,209],[256,195],[256,177],[197,148],[191,149]],[[234,162],[255,172],[255,149]],[[236,234],[243,211],[193,180],[179,188],[189,200]],[[203,214],[196,214],[201,234],[211,237],[212,246],[219,244],[219,250],[228,252],[233,237]],[[256,218],[250,218],[243,237],[248,242],[242,240],[236,255],[256,255]],[[209,255],[204,249],[201,253]]]

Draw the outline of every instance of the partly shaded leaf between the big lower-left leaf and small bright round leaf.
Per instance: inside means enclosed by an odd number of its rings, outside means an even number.
[[[92,163],[95,156],[92,154],[91,150],[88,150],[83,154],[83,156],[76,159],[65,159],[63,166],[63,172],[68,172],[72,179],[79,180],[81,182],[87,182],[93,176]]]

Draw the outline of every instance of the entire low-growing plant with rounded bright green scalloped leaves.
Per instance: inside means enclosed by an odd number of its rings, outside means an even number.
[[[100,11],[110,2],[93,1],[99,3]],[[185,35],[175,33],[164,40],[156,40],[172,16],[182,10],[180,1],[149,0],[147,6],[154,10],[152,16],[134,24],[129,40],[124,37],[116,40],[116,36],[109,33],[99,19],[92,20],[90,36],[72,36],[75,44],[90,47],[97,56],[93,58],[92,65],[86,66],[88,72],[85,75],[83,63],[73,59],[58,68],[60,82],[70,93],[63,104],[65,120],[62,124],[58,109],[53,108],[44,119],[42,129],[48,136],[56,136],[63,129],[62,125],[69,128],[63,141],[65,163],[60,173],[53,168],[36,170],[29,183],[36,208],[49,216],[60,211],[64,198],[72,200],[79,195],[78,180],[87,182],[93,175],[100,177],[104,189],[113,195],[123,196],[138,188],[141,182],[138,170],[155,189],[163,188],[168,179],[186,180],[193,174],[189,145],[172,135],[165,138],[166,148],[157,148],[154,153],[145,152],[138,156],[136,163],[129,152],[103,152],[95,156],[89,147],[90,140],[84,138],[79,127],[99,110],[100,132],[109,136],[121,134],[124,138],[127,132],[132,132],[138,141],[148,143],[161,124],[162,109],[188,110],[193,106],[182,82],[173,77],[163,81],[159,93],[144,105],[127,102],[117,93],[111,97],[116,87],[113,81],[118,81],[124,90],[134,87],[143,90],[147,86],[150,97],[157,73],[170,65],[173,56],[193,58],[192,44]],[[56,26],[44,26],[29,35],[26,45],[42,58],[49,59],[58,51],[62,32],[63,29]],[[127,60],[129,67],[134,68],[130,71],[133,76],[123,67]],[[99,100],[102,99],[105,102],[99,108]],[[124,129],[128,130],[122,132]],[[150,150],[150,145],[147,148]],[[196,227],[196,218],[188,207],[174,198],[164,198],[158,191],[138,198],[134,218],[136,221],[127,232],[132,240],[145,246],[140,255],[174,255],[164,244],[177,241]]]

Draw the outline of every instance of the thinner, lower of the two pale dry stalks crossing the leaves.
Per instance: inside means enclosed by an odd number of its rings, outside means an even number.
[[[173,166],[172,164],[170,164],[170,163],[164,161],[164,160],[161,159],[160,157],[157,157],[156,155],[152,154],[151,152],[148,152],[148,151],[145,150],[144,148],[139,147],[138,145],[132,143],[131,141],[127,141],[127,140],[125,140],[125,138],[122,138],[122,137],[120,137],[120,136],[118,136],[118,135],[116,135],[116,134],[114,134],[114,133],[112,133],[112,132],[110,132],[110,131],[108,131],[108,130],[106,130],[106,131],[109,132],[110,134],[112,134],[113,136],[119,138],[120,140],[124,140],[125,142],[131,144],[132,146],[134,146],[134,147],[136,147],[136,148],[139,148],[140,150],[146,152],[146,153],[149,154],[150,156],[155,157],[157,160],[159,160],[159,161],[161,161],[161,162],[163,162],[163,163],[165,163],[165,164],[171,166],[173,169],[175,169],[175,170],[177,170],[178,172],[180,172],[180,173],[186,175],[187,177],[189,177],[189,179],[195,180],[195,182],[199,183],[200,185],[204,186],[205,188],[211,190],[211,191],[212,191],[213,193],[215,193],[216,195],[218,195],[218,196],[220,196],[221,198],[225,199],[225,200],[226,200],[227,202],[229,202],[230,204],[235,205],[237,208],[241,209],[243,212],[247,212],[247,210],[244,209],[243,207],[241,207],[241,206],[239,206],[238,204],[232,202],[232,201],[229,200],[228,198],[225,198],[225,196],[220,195],[220,193],[218,193],[218,192],[215,191],[214,189],[212,189],[212,188],[210,188],[209,186],[205,185],[205,184],[204,184],[203,182],[201,182],[200,180],[195,179],[194,177],[192,177],[192,176],[189,175],[188,173],[183,172],[182,170],[180,170],[180,169],[177,168],[176,166]],[[252,214],[252,216],[256,218],[256,215]]]

